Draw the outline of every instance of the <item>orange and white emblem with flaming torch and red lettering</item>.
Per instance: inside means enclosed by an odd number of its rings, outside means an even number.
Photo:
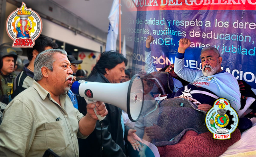
[[[17,48],[32,48],[42,28],[40,16],[31,8],[28,9],[24,2],[9,15],[6,21],[7,34],[14,41],[12,47]]]

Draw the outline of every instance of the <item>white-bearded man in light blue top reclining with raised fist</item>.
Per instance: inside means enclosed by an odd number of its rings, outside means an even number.
[[[178,54],[175,58],[174,72],[182,79],[193,83],[198,87],[204,87],[218,97],[223,97],[230,101],[230,105],[238,111],[240,104],[239,85],[234,76],[221,69],[222,57],[216,48],[206,47],[202,49],[200,59],[202,70],[191,70],[184,67],[184,53],[190,46],[189,39],[180,39]],[[187,90],[187,92],[190,89]],[[212,104],[200,104],[198,109],[208,111]]]

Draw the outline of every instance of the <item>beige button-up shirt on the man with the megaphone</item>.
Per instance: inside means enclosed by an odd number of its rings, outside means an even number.
[[[50,148],[61,157],[77,157],[83,117],[66,93],[60,105],[36,81],[6,107],[0,125],[0,156],[39,156]],[[59,121],[56,121],[57,118]]]

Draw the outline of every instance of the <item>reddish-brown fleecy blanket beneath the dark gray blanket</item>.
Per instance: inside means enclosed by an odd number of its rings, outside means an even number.
[[[238,129],[231,134],[231,139],[227,140],[213,139],[210,132],[198,134],[190,130],[177,144],[157,148],[161,157],[218,157],[240,138]]]

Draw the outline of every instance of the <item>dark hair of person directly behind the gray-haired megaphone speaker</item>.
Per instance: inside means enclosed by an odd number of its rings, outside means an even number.
[[[27,50],[28,60],[29,61],[32,60],[34,50],[37,50],[37,52],[40,53],[40,52],[44,51],[46,46],[50,46],[53,49],[58,48],[58,45],[55,42],[53,42],[51,38],[49,38],[48,36],[40,35],[35,40],[35,45],[33,46],[33,48],[28,48],[28,50]]]

